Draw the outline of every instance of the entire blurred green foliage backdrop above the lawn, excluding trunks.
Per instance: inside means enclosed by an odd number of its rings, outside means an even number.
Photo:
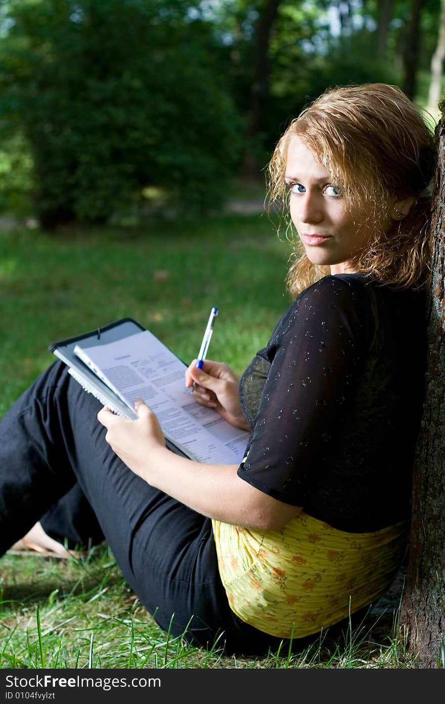
[[[28,195],[43,225],[103,222],[153,192],[163,206],[217,210],[243,153],[266,165],[326,87],[402,84],[412,4],[394,0],[382,55],[379,0],[281,0],[251,143],[266,0],[0,0],[0,210],[30,208]],[[438,18],[425,0],[423,76]]]

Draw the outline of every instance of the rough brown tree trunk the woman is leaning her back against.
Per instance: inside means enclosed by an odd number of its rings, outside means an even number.
[[[413,472],[413,520],[401,626],[420,667],[445,667],[445,120],[439,127],[431,237],[428,366]],[[413,331],[415,334],[415,331]],[[409,383],[409,382],[408,382]]]

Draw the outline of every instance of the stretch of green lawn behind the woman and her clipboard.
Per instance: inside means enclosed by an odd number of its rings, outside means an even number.
[[[241,372],[290,303],[289,253],[265,214],[1,233],[0,415],[53,361],[51,342],[126,316],[188,361],[217,306],[209,357]]]

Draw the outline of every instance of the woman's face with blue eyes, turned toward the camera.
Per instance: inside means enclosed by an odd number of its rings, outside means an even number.
[[[299,137],[288,146],[285,181],[290,187],[290,216],[309,260],[330,265],[331,274],[352,272],[349,260],[359,253],[376,228],[387,232],[389,215],[380,222],[368,211],[346,211],[330,172]]]

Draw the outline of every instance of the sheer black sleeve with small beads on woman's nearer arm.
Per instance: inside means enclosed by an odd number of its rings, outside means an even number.
[[[320,467],[344,442],[372,336],[363,282],[328,276],[300,294],[243,375],[242,403],[257,396],[257,413],[239,477],[304,506]]]

